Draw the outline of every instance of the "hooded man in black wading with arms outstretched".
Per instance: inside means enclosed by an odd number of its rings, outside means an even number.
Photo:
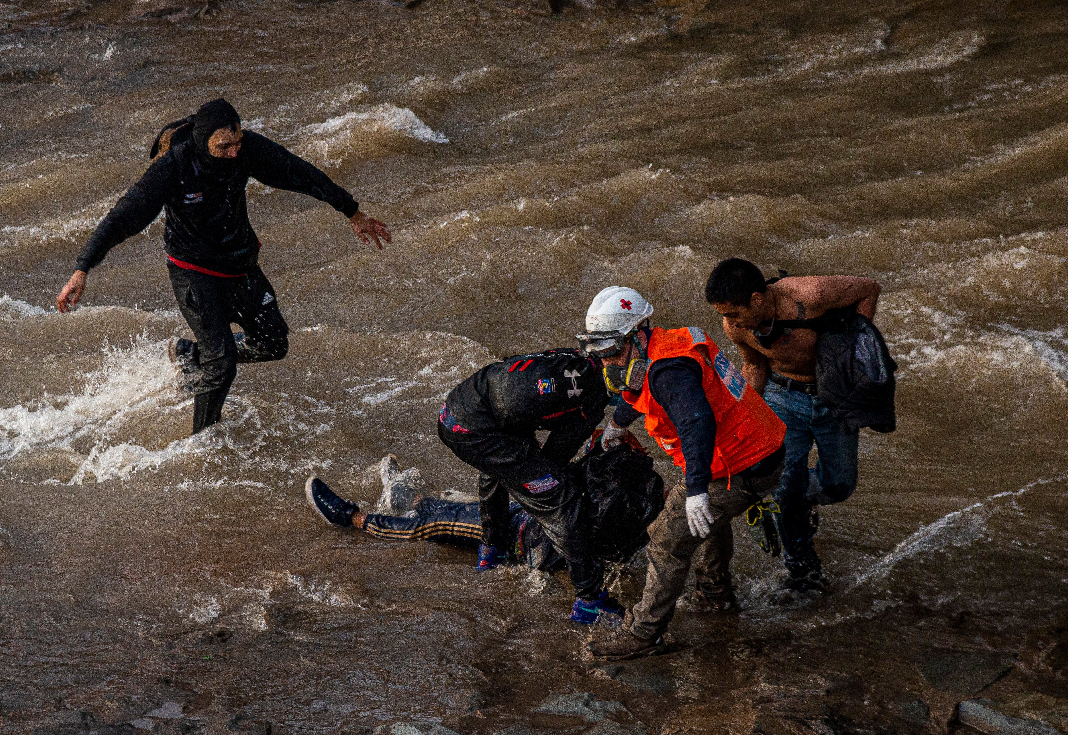
[[[325,173],[267,138],[241,130],[237,111],[222,98],[163,128],[152,155],[148,170],[89,238],[56,306],[69,311],[85,290],[89,270],[166,208],[163,250],[171,286],[197,337],[172,339],[169,353],[184,371],[197,373],[195,434],[219,420],[238,363],[281,359],[289,347],[274,289],[256,265],[260,241],[245,199],[250,176],[328,203],[349,218],[365,244],[373,239],[381,250],[379,238],[393,240],[384,224],[358,211],[351,194]],[[231,322],[245,332],[232,334]]]

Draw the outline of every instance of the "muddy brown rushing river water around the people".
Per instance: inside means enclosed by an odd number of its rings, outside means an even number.
[[[532,0],[7,0],[0,16],[0,731],[128,732],[174,702],[185,719],[147,726],[580,733],[530,715],[571,691],[650,733],[944,732],[976,697],[1068,723],[1063,4],[591,0],[554,20]],[[50,304],[161,124],[220,95],[394,244],[252,183],[292,350],[241,366],[225,420],[189,438],[158,222],[75,314]],[[771,606],[781,565],[739,529],[743,614],[684,607],[673,653],[595,669],[565,577],[476,575],[470,553],[340,532],[304,506],[313,470],[374,504],[387,452],[470,492],[435,435],[455,383],[569,345],[610,284],[722,343],[702,286],[736,254],[883,284],[899,429],[864,432],[855,495],[823,509],[829,597]],[[623,572],[624,602],[642,574]]]

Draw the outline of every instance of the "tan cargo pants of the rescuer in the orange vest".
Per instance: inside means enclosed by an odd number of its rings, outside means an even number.
[[[743,480],[735,475],[731,478],[731,490],[727,490],[726,478],[712,480],[708,485],[708,508],[716,521],[706,539],[690,534],[690,525],[686,520],[686,484],[679,482],[672,489],[664,509],[649,524],[649,545],[645,552],[649,571],[645,575],[642,601],[632,610],[633,633],[653,638],[668,629],[668,624],[675,617],[675,603],[686,588],[693,555],[698,548],[702,554],[697,584],[703,588],[729,584],[729,563],[734,556],[731,521],[774,490],[782,473],[780,462],[764,477]]]

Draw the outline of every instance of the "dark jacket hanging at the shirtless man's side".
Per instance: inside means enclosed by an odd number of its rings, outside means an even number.
[[[835,418],[851,430],[889,433],[894,416],[894,371],[879,329],[863,314],[831,321],[816,342],[816,390]]]

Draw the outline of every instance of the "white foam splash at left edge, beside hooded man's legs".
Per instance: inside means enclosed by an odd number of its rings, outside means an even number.
[[[131,414],[175,402],[174,370],[163,342],[142,333],[128,349],[105,343],[103,357],[78,392],[0,409],[0,459],[43,447],[70,448],[87,434],[106,436]]]

